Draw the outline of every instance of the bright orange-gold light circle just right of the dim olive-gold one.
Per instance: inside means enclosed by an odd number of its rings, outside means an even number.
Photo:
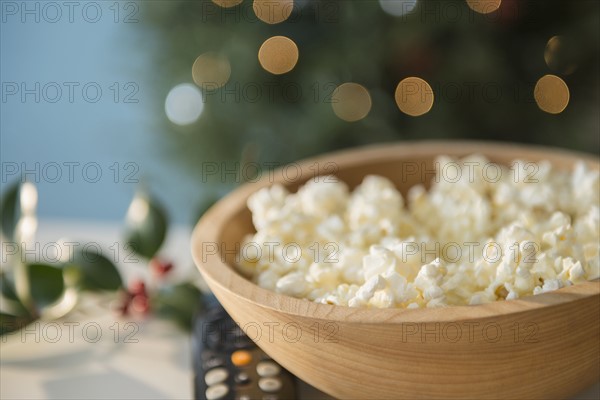
[[[414,76],[400,81],[395,98],[400,111],[412,117],[428,113],[434,101],[433,89],[429,83]]]

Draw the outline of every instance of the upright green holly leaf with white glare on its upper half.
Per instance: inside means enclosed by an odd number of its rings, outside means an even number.
[[[146,194],[137,194],[127,211],[127,243],[142,257],[151,259],[162,246],[167,234],[167,215]]]

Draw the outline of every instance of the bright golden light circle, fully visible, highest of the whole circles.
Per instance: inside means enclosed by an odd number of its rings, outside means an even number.
[[[258,61],[268,72],[281,75],[290,72],[298,62],[298,46],[285,36],[273,36],[260,46]]]

